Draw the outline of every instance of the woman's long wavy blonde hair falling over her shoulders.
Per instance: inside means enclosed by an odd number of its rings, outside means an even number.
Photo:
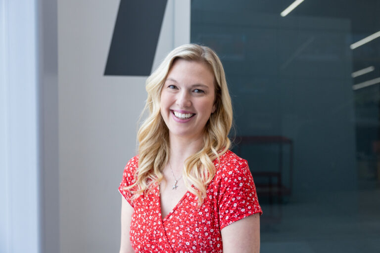
[[[173,62],[179,58],[204,62],[215,76],[216,110],[206,123],[203,148],[185,161],[183,169],[185,185],[192,194],[198,197],[199,205],[206,197],[206,186],[216,172],[213,160],[219,160],[219,157],[231,145],[228,134],[232,127],[233,110],[219,57],[211,48],[198,44],[185,44],[175,48],[146,80],[148,97],[143,113],[148,110],[149,115],[138,131],[139,168],[135,175],[136,182],[126,187],[126,189],[133,189],[132,200],[152,189],[156,182],[161,182],[163,179],[161,169],[169,161],[169,130],[160,113],[160,97],[168,72]]]

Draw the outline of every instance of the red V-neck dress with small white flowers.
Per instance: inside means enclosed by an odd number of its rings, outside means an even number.
[[[206,199],[198,207],[189,191],[162,218],[157,184],[148,194],[131,202],[125,186],[135,182],[138,156],[125,166],[120,193],[134,208],[130,240],[136,253],[222,253],[221,229],[254,213],[262,214],[247,161],[227,151],[214,161],[216,174],[207,186]]]

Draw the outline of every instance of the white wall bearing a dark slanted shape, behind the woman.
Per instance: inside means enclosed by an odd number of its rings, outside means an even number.
[[[119,249],[117,187],[136,153],[146,77],[103,76],[118,6],[58,0],[60,253]],[[154,65],[188,42],[190,0],[169,0]]]

